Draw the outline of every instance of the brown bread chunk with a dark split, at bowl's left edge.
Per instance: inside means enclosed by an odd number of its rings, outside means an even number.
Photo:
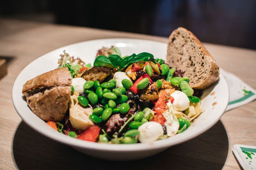
[[[60,122],[68,108],[71,80],[67,67],[54,69],[27,81],[22,94],[36,116],[45,121]]]

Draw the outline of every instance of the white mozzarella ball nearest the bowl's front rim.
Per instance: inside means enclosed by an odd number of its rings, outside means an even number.
[[[140,131],[138,139],[141,143],[156,141],[156,139],[164,134],[162,125],[157,122],[146,122],[139,127],[138,131]]]

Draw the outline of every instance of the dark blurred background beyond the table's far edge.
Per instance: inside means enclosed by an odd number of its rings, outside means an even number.
[[[255,0],[0,1],[2,18],[165,37],[182,26],[201,41],[254,50],[255,9]]]

